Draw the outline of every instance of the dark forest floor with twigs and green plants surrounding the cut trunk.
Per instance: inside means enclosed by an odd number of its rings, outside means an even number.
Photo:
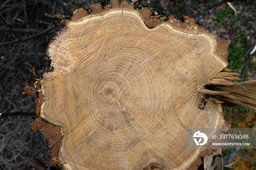
[[[247,55],[256,44],[256,1],[230,1],[236,11],[231,9],[226,0],[160,2],[165,13],[184,15],[191,10],[196,23],[215,34],[217,40],[223,42],[230,39],[227,67],[242,73],[247,65],[243,79],[256,80],[256,53]],[[91,0],[64,0],[64,5],[71,11],[76,8],[89,9],[91,3]],[[9,24],[13,31],[0,20],[0,45],[47,30],[53,24],[45,13],[54,15],[58,12],[68,15],[54,1],[2,0],[0,18]],[[55,28],[26,42],[0,47],[0,170],[58,169],[50,164],[48,140],[30,127],[30,122],[36,117],[34,100],[37,96],[26,97],[22,94],[33,75],[33,66],[44,65],[44,54],[38,44],[54,34],[54,30]],[[245,64],[246,57],[249,57],[248,64]],[[256,113],[246,108],[226,109],[226,119],[231,121],[234,128],[256,128]],[[245,154],[256,161],[256,150],[245,150]],[[230,160],[232,163],[239,159],[229,166],[231,169],[256,169],[255,162],[232,154],[232,150],[223,150],[223,156],[229,160],[226,165]]]

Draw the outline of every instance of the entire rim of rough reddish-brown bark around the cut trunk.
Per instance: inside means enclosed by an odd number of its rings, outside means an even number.
[[[165,22],[162,19],[158,19],[159,16],[155,16],[155,17],[151,16],[151,10],[149,8],[144,8],[142,10],[135,10],[133,8],[133,5],[129,4],[127,1],[121,1],[121,4],[120,4],[117,0],[111,0],[110,4],[106,5],[104,8],[102,8],[100,3],[92,4],[89,9],[90,13],[88,13],[82,8],[76,9],[73,12],[73,16],[71,20],[65,19],[63,15],[60,15],[60,14],[55,15],[54,16],[55,18],[61,19],[61,24],[59,25],[59,28],[56,30],[56,34],[52,36],[50,43],[54,43],[54,39],[56,39],[56,37],[59,34],[61,34],[63,29],[65,29],[65,26],[69,22],[79,21],[80,19],[89,15],[103,15],[104,13],[108,12],[110,9],[134,10],[142,17],[143,22],[146,24],[148,28],[154,28],[156,26],[159,26],[162,23],[167,23],[167,24],[170,24],[170,26],[172,26],[174,29],[182,31],[186,34],[191,34],[191,36],[196,36],[196,35],[199,35],[200,33],[207,34],[210,37],[212,37],[212,39],[215,42],[214,53],[218,55],[224,62],[227,63],[227,55],[228,55],[227,47],[228,45],[230,45],[230,42],[231,42],[230,40],[226,40],[223,43],[221,43],[220,41],[217,42],[217,40],[215,40],[215,36],[211,34],[209,30],[204,30],[203,27],[200,27],[195,23],[194,19],[188,18],[188,16],[184,16],[185,22],[183,23],[181,22],[181,20],[178,20],[173,16],[169,17],[169,19]],[[50,58],[47,52],[46,52],[45,58],[49,60],[48,67],[50,67]],[[51,71],[53,71],[53,69],[48,68],[48,70],[51,70]],[[43,70],[42,74],[48,72],[48,70],[46,68],[46,70]],[[40,79],[40,81],[41,80],[42,79]],[[60,147],[61,147],[61,142],[62,142],[64,132],[63,130],[61,130],[61,128],[47,122],[46,120],[42,119],[42,117],[40,117],[40,110],[41,110],[41,104],[42,104],[41,101],[43,101],[43,97],[44,97],[41,92],[41,85],[38,84],[35,87],[31,87],[27,84],[23,94],[28,94],[28,96],[33,96],[37,92],[39,92],[39,97],[37,98],[37,100],[35,100],[35,103],[36,103],[36,113],[38,117],[35,119],[35,121],[31,123],[31,127],[33,128],[33,130],[40,131],[44,134],[44,136],[46,136],[46,138],[49,140],[49,143],[50,143],[49,147],[52,147],[52,159],[51,159],[52,164],[62,167],[64,164],[64,161],[61,159]],[[223,119],[224,119],[224,116],[223,116]],[[226,121],[223,127],[231,127],[230,122]],[[216,150],[206,149],[206,150],[200,151],[200,154],[198,155],[198,157],[195,159],[195,161],[191,165],[188,166],[187,169],[191,169],[191,170],[197,169],[197,167],[202,164],[201,157],[212,155],[213,151],[216,151]],[[144,170],[146,169],[163,170],[163,167],[161,167],[156,163],[151,163],[150,166],[146,167]]]

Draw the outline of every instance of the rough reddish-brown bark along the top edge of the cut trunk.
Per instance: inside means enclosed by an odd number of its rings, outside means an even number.
[[[106,5],[104,8],[102,8],[101,4],[92,4],[89,11],[90,14],[85,11],[84,9],[76,9],[73,12],[73,16],[71,18],[72,21],[78,21],[82,19],[83,17],[89,16],[89,15],[103,15],[110,9],[129,9],[129,10],[135,10],[132,4],[129,4],[127,1],[121,1],[121,4],[119,4],[118,0],[111,0],[109,5]],[[160,15],[158,16],[151,16],[152,12],[149,8],[144,8],[142,10],[135,10],[139,15],[142,17],[144,23],[148,28],[154,28],[156,26],[159,26],[162,23],[170,24],[173,28],[176,30],[185,32],[186,34],[191,34],[191,36],[196,36],[201,33],[209,35],[212,39],[214,39],[215,47],[214,47],[214,53],[215,55],[219,56],[226,64],[227,63],[227,56],[228,56],[228,47],[231,43],[230,40],[226,40],[223,43],[221,41],[217,41],[215,39],[215,35],[211,34],[209,30],[205,30],[204,27],[201,27],[195,23],[195,20],[192,18],[189,18],[188,16],[184,16],[185,22],[181,22],[181,20],[178,20],[174,18],[174,16],[170,16],[169,19],[165,22],[163,19],[158,19]],[[67,21],[69,22],[69,21]]]

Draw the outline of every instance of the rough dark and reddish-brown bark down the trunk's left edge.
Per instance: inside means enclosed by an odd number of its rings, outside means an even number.
[[[52,148],[52,165],[63,167],[64,161],[60,152],[64,135],[63,128],[58,127],[57,125],[54,125],[41,117],[41,106],[44,101],[44,95],[42,94],[41,90],[41,81],[44,79],[45,73],[54,71],[54,68],[51,66],[51,59],[47,52],[48,47],[50,43],[54,43],[54,40],[59,34],[61,34],[61,32],[65,29],[66,24],[69,22],[69,20],[60,13],[52,16],[52,18],[53,23],[57,26],[57,29],[55,34],[50,37],[48,44],[46,44],[47,47],[44,49],[44,60],[46,62],[46,66],[42,66],[40,68],[33,67],[33,76],[31,76],[29,82],[27,83],[23,94],[27,94],[27,96],[34,96],[35,94],[38,94],[38,98],[35,100],[35,112],[37,114],[37,118],[31,122],[31,128],[34,131],[41,132],[46,139],[49,140],[49,147]]]

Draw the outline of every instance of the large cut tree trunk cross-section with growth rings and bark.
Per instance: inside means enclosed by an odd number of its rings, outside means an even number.
[[[39,93],[32,128],[49,139],[53,165],[196,169],[216,150],[186,149],[186,128],[229,128],[223,105],[242,105],[219,90],[237,85],[224,69],[230,41],[126,1],[90,11],[62,21],[46,50],[50,65],[34,69],[24,92]]]

